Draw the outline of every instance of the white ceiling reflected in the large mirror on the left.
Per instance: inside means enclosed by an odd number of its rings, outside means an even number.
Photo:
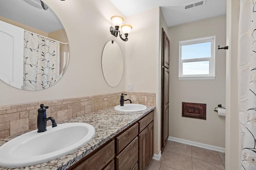
[[[40,0],[31,0],[39,2]],[[48,8],[37,8],[25,0],[0,0],[0,16],[46,33],[64,29],[56,14]]]

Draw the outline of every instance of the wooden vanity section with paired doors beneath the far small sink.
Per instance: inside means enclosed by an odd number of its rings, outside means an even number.
[[[139,170],[146,170],[153,157],[154,112],[139,121]]]

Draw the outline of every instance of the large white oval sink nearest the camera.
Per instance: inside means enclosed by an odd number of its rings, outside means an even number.
[[[0,166],[20,168],[48,162],[88,143],[95,129],[87,123],[64,123],[20,135],[0,147]]]

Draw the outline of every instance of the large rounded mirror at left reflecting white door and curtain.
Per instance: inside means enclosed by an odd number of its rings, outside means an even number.
[[[41,0],[0,1],[0,79],[23,90],[56,84],[69,61],[66,31]]]

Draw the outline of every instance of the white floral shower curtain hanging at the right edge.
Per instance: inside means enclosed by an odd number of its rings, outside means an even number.
[[[238,106],[241,170],[256,169],[256,0],[240,0]],[[231,113],[232,116],[232,113]]]

